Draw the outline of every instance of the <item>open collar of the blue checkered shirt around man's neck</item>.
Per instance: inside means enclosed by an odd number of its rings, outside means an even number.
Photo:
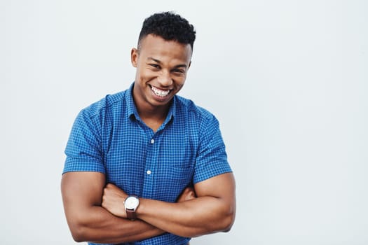
[[[137,107],[135,106],[134,103],[134,99],[133,99],[133,87],[134,87],[134,82],[132,83],[132,85],[130,85],[127,94],[126,94],[126,104],[127,104],[127,110],[128,110],[128,116],[129,118],[131,118],[131,116],[134,116],[136,120],[141,120],[141,118],[139,117],[138,111],[137,111]],[[163,125],[161,125],[160,128],[165,127],[165,125],[167,125],[168,123],[170,123],[170,121],[174,118],[175,116],[175,111],[176,111],[176,104],[177,104],[177,96],[175,95],[172,98],[172,102],[169,108],[169,112],[168,112],[168,116],[166,116],[165,121],[163,122]]]

